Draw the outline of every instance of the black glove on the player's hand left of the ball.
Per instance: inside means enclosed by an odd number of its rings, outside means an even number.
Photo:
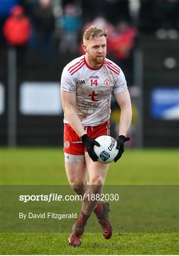
[[[94,145],[100,146],[100,144],[93,138],[90,138],[87,134],[84,134],[81,137],[81,141],[85,144],[85,148],[93,162],[97,162],[98,156],[94,152]]]

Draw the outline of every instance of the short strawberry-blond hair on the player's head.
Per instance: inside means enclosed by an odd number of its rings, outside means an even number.
[[[106,37],[108,38],[108,30],[102,30],[102,28],[96,27],[95,25],[91,25],[85,30],[83,35],[83,42],[85,41],[92,41],[96,37]]]

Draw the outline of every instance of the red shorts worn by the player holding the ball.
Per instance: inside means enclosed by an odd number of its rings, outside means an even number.
[[[110,135],[110,121],[98,126],[84,127],[86,134],[91,138],[97,138],[102,135]],[[64,124],[64,152],[70,155],[84,155],[86,148],[76,131],[69,124]]]

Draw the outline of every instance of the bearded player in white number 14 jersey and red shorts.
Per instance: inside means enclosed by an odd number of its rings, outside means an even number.
[[[64,154],[68,181],[78,195],[100,194],[109,165],[97,162],[95,138],[109,135],[111,93],[121,109],[118,161],[131,123],[132,109],[125,76],[118,65],[106,58],[107,31],[92,25],[83,36],[85,55],[67,64],[61,76],[61,99],[64,110]],[[87,174],[89,186],[87,186]],[[68,244],[79,246],[87,220],[96,215],[104,238],[112,236],[109,203],[84,197],[73,225]]]

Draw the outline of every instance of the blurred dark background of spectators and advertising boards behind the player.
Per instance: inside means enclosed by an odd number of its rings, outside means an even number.
[[[91,24],[108,29],[107,57],[128,82],[128,146],[178,146],[178,0],[0,0],[0,145],[62,146],[60,76]],[[116,137],[113,97],[111,109]]]

